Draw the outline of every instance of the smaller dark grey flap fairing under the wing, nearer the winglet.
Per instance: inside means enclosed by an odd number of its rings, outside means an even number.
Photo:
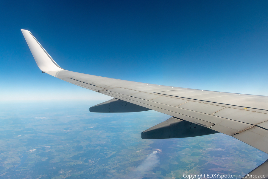
[[[140,112],[148,111],[146,107],[113,98],[89,108],[90,112]]]

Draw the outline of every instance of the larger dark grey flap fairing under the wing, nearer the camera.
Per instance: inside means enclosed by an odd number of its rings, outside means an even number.
[[[171,117],[143,132],[142,139],[185,138],[218,133],[212,129]]]

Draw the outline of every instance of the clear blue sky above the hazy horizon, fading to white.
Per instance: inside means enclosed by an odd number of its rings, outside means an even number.
[[[268,95],[268,1],[0,1],[0,100],[105,100],[42,74],[20,31],[67,70]]]

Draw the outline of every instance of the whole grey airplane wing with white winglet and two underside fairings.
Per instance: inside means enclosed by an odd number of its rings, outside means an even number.
[[[142,138],[192,137],[222,132],[268,153],[268,96],[169,87],[64,70],[32,33],[21,31],[43,73],[114,98],[91,107],[91,112],[152,109],[172,116],[142,132]]]

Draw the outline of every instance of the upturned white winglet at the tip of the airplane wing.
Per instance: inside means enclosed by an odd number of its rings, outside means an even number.
[[[21,29],[21,32],[35,58],[36,64],[42,72],[64,70],[51,58],[30,31]]]

